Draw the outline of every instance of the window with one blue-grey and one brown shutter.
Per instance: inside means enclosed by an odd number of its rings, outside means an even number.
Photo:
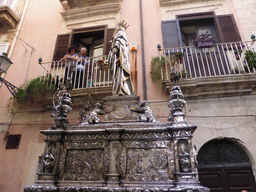
[[[208,33],[215,42],[241,41],[233,15],[214,12],[178,15],[176,20],[162,21],[164,48],[192,46],[193,40]]]

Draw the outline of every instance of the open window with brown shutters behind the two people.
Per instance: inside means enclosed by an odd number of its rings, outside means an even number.
[[[57,36],[53,60],[60,60],[71,45],[79,50],[87,48],[87,56],[97,57],[108,54],[111,47],[111,38],[114,29],[108,29],[106,25],[88,28],[73,29],[70,34]]]

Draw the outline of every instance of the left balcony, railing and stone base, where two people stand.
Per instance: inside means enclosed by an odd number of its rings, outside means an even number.
[[[91,103],[101,102],[112,93],[112,76],[107,56],[88,57],[85,62],[77,60],[40,63],[38,77],[51,77],[51,83],[56,87],[70,79],[74,107],[84,106],[89,98]],[[51,108],[52,98],[47,98],[44,105]]]

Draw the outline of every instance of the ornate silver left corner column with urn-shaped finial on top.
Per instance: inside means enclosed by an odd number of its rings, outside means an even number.
[[[55,105],[55,96],[58,96],[58,104]],[[58,174],[59,156],[63,148],[62,135],[64,130],[68,126],[67,115],[72,110],[70,94],[64,86],[63,90],[58,90],[53,96],[53,109],[54,113],[51,115],[54,118],[55,125],[51,129],[41,131],[47,136],[45,140],[44,153],[39,157],[39,172],[38,181],[36,185],[40,187],[42,191],[52,191],[57,188],[55,182]]]

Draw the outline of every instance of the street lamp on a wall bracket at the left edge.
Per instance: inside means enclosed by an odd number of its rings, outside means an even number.
[[[7,57],[6,53],[0,55],[0,83],[3,82],[7,89],[10,91],[10,93],[15,97],[15,93],[17,92],[18,88],[1,77],[2,73],[6,73],[11,64],[12,62]]]

